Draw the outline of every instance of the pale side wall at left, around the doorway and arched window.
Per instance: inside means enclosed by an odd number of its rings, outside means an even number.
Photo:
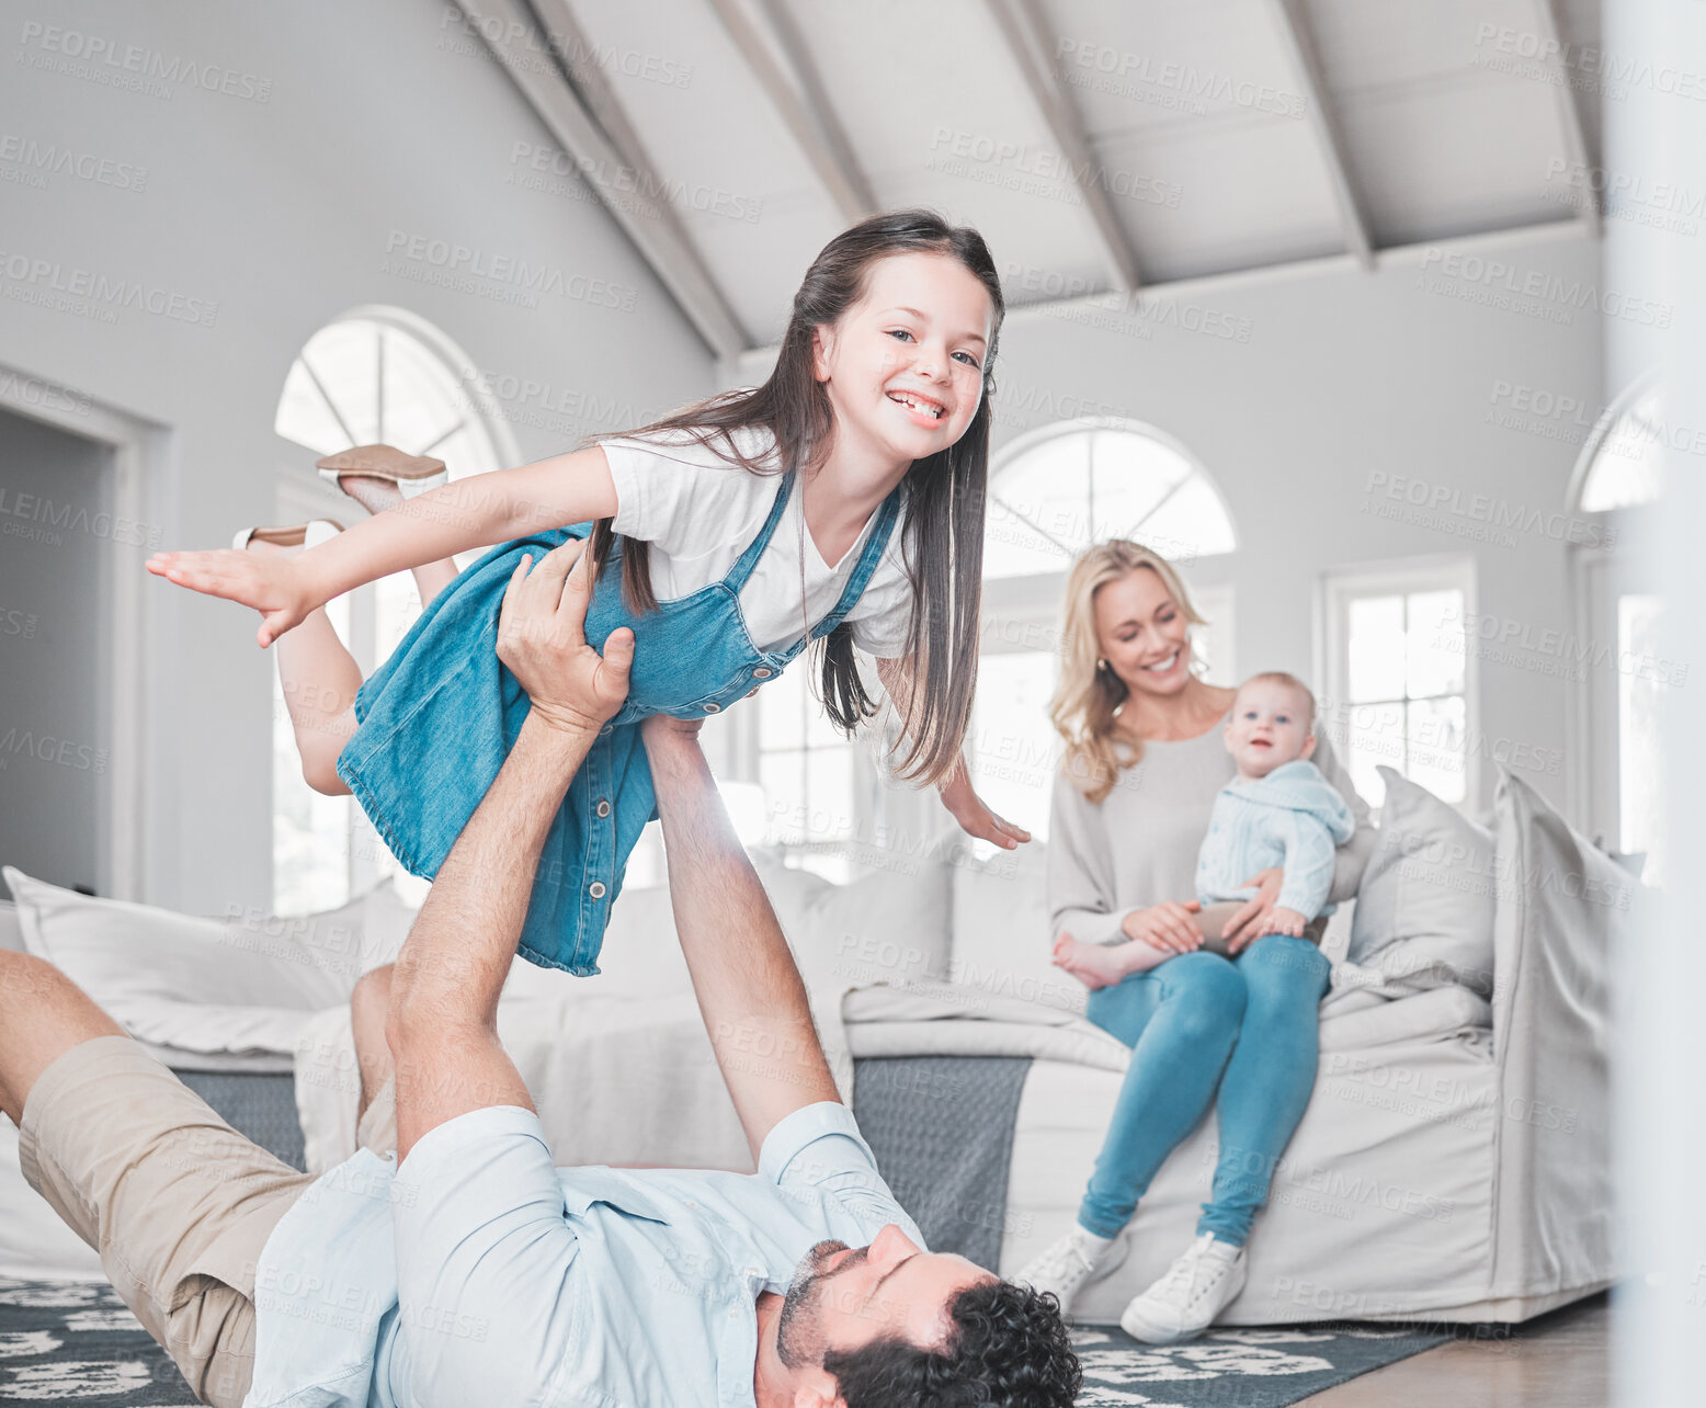
[[[508,404],[527,457],[711,389],[710,353],[602,207],[508,184],[512,143],[543,131],[447,12],[430,0],[12,9],[0,367],[167,427],[147,486],[154,546],[218,546],[273,521],[280,473],[305,481],[312,459],[273,433],[285,372],[321,324],[360,304],[411,309],[481,370],[546,382]],[[131,65],[177,80],[126,90],[130,46]],[[48,148],[89,177],[56,171]],[[512,288],[502,276],[474,292],[411,282],[384,268],[392,232],[467,246],[486,270],[546,266],[582,297],[546,292],[524,307],[490,297]],[[438,271],[430,258],[403,263]],[[142,283],[171,312],[41,302],[78,276]],[[203,314],[212,326],[193,321]],[[107,548],[142,573],[145,553]],[[271,660],[246,611],[152,577],[142,589],[143,898],[263,903]]]

